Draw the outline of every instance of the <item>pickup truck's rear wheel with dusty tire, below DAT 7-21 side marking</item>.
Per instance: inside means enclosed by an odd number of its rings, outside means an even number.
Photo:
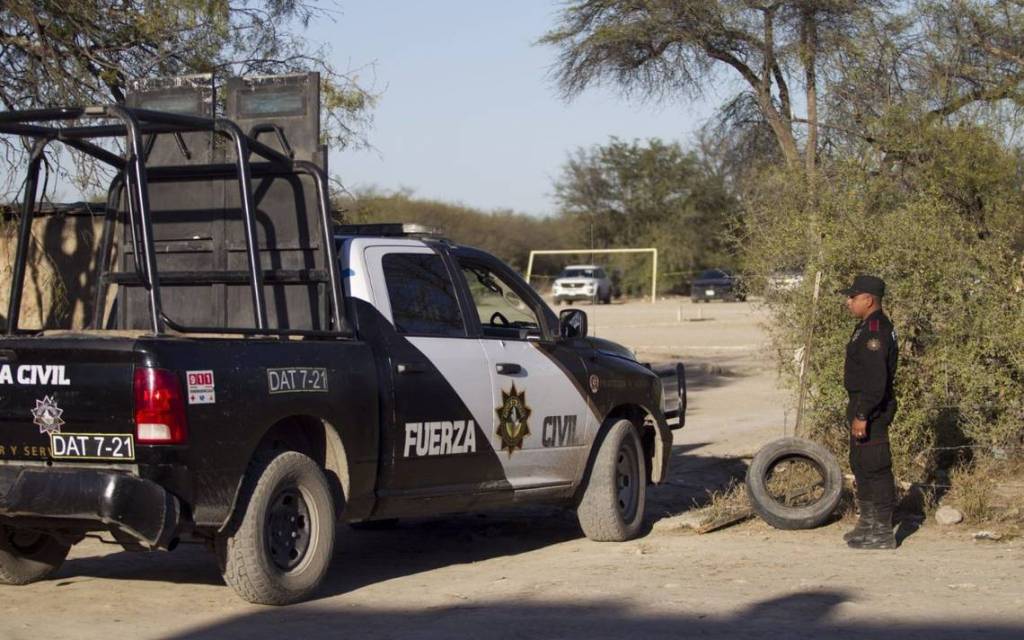
[[[335,505],[324,471],[308,456],[284,452],[253,464],[240,519],[217,541],[224,582],[253,604],[307,598],[334,555]]]

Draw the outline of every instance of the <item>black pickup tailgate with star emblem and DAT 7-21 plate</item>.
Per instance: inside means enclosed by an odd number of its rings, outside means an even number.
[[[134,344],[95,335],[0,339],[0,461],[132,460]]]

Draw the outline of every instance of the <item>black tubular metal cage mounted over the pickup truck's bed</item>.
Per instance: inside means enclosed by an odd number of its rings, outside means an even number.
[[[120,124],[103,123],[91,126],[77,124],[80,120],[88,119],[114,120],[120,121]],[[194,132],[211,132],[227,138],[234,151],[234,164],[191,164],[146,168],[148,151],[153,147],[157,135],[174,135],[179,148],[187,158],[187,150],[184,146],[181,134]],[[257,136],[261,133],[276,134],[279,143],[285,150],[285,153],[281,153],[257,140]],[[226,118],[207,118],[135,109],[122,104],[104,104],[0,112],[0,134],[19,135],[35,140],[29,154],[29,167],[25,180],[25,197],[22,202],[17,253],[14,258],[10,300],[7,310],[8,335],[18,333],[18,314],[20,313],[25,275],[29,259],[32,220],[35,215],[36,196],[39,187],[39,172],[43,163],[44,152],[47,145],[54,140],[63,142],[72,148],[85,153],[113,167],[118,172],[110,189],[111,202],[108,204],[109,213],[104,222],[97,257],[98,271],[100,273],[94,318],[94,324],[97,327],[99,326],[99,322],[101,322],[100,318],[104,308],[105,286],[109,284],[118,284],[119,286],[135,286],[145,289],[148,297],[148,321],[155,335],[166,333],[167,328],[182,333],[334,337],[351,335],[342,304],[342,289],[337,255],[335,244],[332,242],[334,223],[331,219],[328,200],[327,176],[324,170],[316,164],[293,159],[291,147],[280,127],[272,124],[258,124],[252,127],[249,133],[246,134],[234,122]],[[91,141],[97,138],[110,137],[125,138],[124,156],[114,154]],[[253,154],[258,156],[261,161],[251,162],[250,156]],[[327,265],[327,268],[310,269],[308,272],[301,270],[263,269],[260,265],[259,246],[257,243],[252,180],[253,178],[299,174],[308,175],[316,188],[318,223],[324,238],[324,242],[319,244],[322,245],[321,250],[326,252],[324,264]],[[248,269],[233,271],[197,270],[158,272],[148,184],[151,182],[231,178],[237,179],[241,197]],[[113,214],[111,212],[117,209],[116,202],[120,200],[120,194],[125,188],[128,191],[128,197],[125,200],[127,203],[128,228],[131,237],[130,246],[135,273],[112,273],[109,271],[114,237]],[[140,256],[141,260],[139,260]],[[168,317],[161,305],[160,288],[164,284],[238,284],[245,282],[248,282],[252,296],[254,323],[252,328],[184,327]],[[332,307],[331,319],[333,321],[333,327],[330,330],[310,331],[268,328],[263,285],[264,283],[290,282],[317,282],[328,285]]]

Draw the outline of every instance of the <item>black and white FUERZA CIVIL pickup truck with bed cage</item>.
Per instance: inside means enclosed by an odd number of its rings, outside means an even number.
[[[90,131],[124,135],[125,157]],[[583,311],[556,316],[487,253],[336,226],[322,169],[284,136],[115,105],[0,114],[0,132],[119,172],[95,272],[113,301],[97,294],[91,328],[22,329],[30,165],[0,338],[0,583],[49,575],[99,532],[204,542],[241,597],[285,604],[324,579],[339,522],[549,503],[593,540],[641,531],[682,425],[681,365],[588,337]],[[166,157],[200,134],[237,157],[150,166],[158,134],[178,138]],[[271,206],[261,180],[282,178],[310,207]],[[215,179],[228,206],[175,200]]]

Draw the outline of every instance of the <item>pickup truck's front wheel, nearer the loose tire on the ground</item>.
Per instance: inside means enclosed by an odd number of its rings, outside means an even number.
[[[583,499],[580,526],[598,542],[636,538],[647,499],[647,460],[636,427],[629,420],[611,425],[601,441]]]

